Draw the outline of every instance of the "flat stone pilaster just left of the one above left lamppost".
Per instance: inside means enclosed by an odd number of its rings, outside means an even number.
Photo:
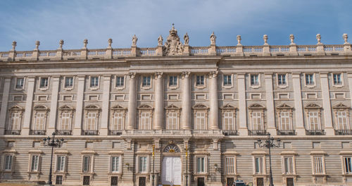
[[[30,123],[32,120],[32,106],[33,106],[33,93],[34,93],[34,81],[35,77],[27,78],[27,100],[25,102],[25,116],[23,118],[23,128],[21,131],[21,135],[29,135],[30,134]]]

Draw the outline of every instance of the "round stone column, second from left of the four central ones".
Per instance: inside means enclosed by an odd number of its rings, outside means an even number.
[[[163,116],[164,116],[164,91],[163,91],[163,73],[156,73],[156,88],[155,88],[155,117],[154,128],[155,130],[163,129]]]

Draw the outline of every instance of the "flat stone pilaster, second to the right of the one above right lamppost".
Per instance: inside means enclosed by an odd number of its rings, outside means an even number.
[[[320,73],[320,82],[322,83],[322,106],[324,111],[324,123],[326,135],[334,135],[334,127],[332,126],[332,109],[330,103],[329,81],[327,80],[327,72]]]

